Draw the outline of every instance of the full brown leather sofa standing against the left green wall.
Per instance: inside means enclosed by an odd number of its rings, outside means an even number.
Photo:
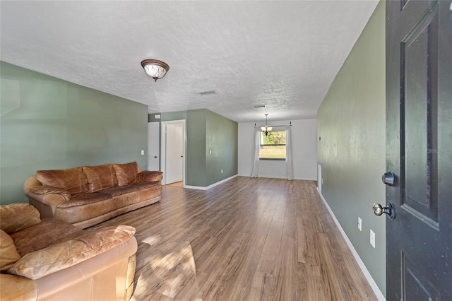
[[[23,185],[42,218],[88,228],[162,198],[162,172],[141,170],[136,162],[39,170]]]

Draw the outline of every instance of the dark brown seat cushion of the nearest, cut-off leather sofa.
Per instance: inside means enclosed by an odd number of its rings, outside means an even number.
[[[49,247],[66,240],[71,235],[80,235],[83,230],[70,223],[54,218],[43,218],[38,225],[11,234],[20,256]]]

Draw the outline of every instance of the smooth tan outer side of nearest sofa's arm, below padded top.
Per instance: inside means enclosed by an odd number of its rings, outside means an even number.
[[[130,273],[133,279],[135,265],[130,261],[136,250],[136,239],[131,237],[117,247],[35,281],[0,274],[0,300],[66,300],[68,296],[72,300],[129,300],[133,283],[126,278]]]

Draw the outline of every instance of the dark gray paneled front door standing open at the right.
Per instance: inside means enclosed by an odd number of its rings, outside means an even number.
[[[451,1],[386,1],[387,293],[452,300]]]

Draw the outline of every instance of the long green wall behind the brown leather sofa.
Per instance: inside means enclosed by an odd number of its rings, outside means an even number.
[[[23,183],[36,170],[146,167],[146,105],[5,62],[0,78],[0,203],[27,202]]]

